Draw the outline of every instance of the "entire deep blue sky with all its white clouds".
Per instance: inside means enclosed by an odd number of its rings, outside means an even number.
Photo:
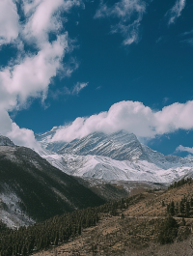
[[[0,134],[133,132],[193,154],[191,0],[0,0]]]

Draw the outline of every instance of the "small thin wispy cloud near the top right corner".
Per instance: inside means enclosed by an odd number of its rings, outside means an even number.
[[[185,2],[185,0],[177,0],[173,8],[167,12],[166,16],[169,16],[168,25],[176,22],[185,7]]]

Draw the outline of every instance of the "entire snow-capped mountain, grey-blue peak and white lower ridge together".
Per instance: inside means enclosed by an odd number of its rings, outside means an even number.
[[[79,177],[105,181],[170,183],[193,174],[193,158],[164,156],[124,130],[94,132],[71,142],[50,142],[57,128],[37,136],[52,165]]]

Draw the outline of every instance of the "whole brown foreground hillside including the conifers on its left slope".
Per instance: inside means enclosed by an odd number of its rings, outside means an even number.
[[[191,235],[193,206],[190,209],[191,217],[182,218],[174,215],[173,219],[176,219],[178,225],[178,234],[174,236],[174,243],[160,244],[159,237],[161,228],[164,227],[163,223],[168,219],[167,205],[173,200],[179,202],[184,196],[189,200],[193,196],[192,191],[192,182],[167,190],[147,190],[98,208],[56,216],[44,224],[29,227],[26,231],[21,229],[18,235],[17,233],[15,235],[19,237],[23,234],[22,237],[25,237],[27,242],[29,238],[32,241],[33,234],[41,234],[41,238],[38,235],[39,237],[33,239],[34,241],[41,239],[40,247],[46,247],[44,242],[53,241],[46,250],[34,252],[34,256],[190,256],[193,251]],[[170,233],[173,234],[172,230]],[[63,240],[67,241],[63,242]]]

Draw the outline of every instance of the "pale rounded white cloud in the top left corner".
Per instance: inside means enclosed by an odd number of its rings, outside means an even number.
[[[18,37],[19,16],[13,0],[0,0],[0,45]]]

